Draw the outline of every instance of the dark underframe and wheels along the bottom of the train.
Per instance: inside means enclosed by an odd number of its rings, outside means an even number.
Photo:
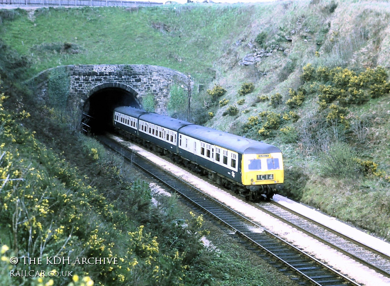
[[[251,185],[251,186],[244,186],[242,184],[239,184],[233,180],[230,180],[222,175],[219,175],[213,170],[210,170],[208,168],[205,168],[203,166],[200,166],[196,163],[193,163],[189,161],[188,159],[185,159],[173,152],[170,152],[167,149],[161,148],[160,146],[157,146],[149,141],[146,141],[142,138],[139,138],[133,134],[130,134],[124,130],[116,129],[116,131],[124,136],[125,138],[129,139],[130,141],[140,144],[149,150],[152,150],[159,155],[167,156],[169,159],[171,159],[173,162],[178,163],[187,169],[191,170],[192,172],[199,174],[201,176],[207,177],[210,181],[214,182],[215,184],[218,184],[220,186],[223,186],[231,191],[233,191],[235,194],[245,197],[247,201],[251,202],[259,202],[263,200],[271,200],[273,195],[276,192],[276,187],[273,185]]]

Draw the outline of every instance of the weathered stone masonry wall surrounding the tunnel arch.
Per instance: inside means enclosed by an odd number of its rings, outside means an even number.
[[[107,87],[119,87],[129,91],[142,104],[142,96],[153,94],[156,112],[167,113],[169,91],[172,84],[188,88],[187,75],[170,68],[156,65],[67,65],[70,78],[68,106],[82,109],[84,102],[96,91]],[[41,72],[33,79],[34,88],[42,98],[47,92],[50,70]]]

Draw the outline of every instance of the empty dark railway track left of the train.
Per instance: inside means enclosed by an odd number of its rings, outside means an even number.
[[[185,197],[198,210],[227,226],[231,231],[233,230],[234,237],[237,240],[267,260],[271,265],[291,276],[292,280],[299,285],[359,285],[277,235],[263,229],[230,207],[219,203],[214,198],[162,170],[156,164],[137,156],[137,154],[113,140],[104,136],[99,136],[98,140],[130,160],[148,175],[153,176],[171,190]]]

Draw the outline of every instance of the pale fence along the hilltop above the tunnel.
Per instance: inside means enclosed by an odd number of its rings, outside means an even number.
[[[94,6],[94,7],[136,7],[136,6],[156,6],[163,3],[150,1],[126,1],[126,0],[0,0],[2,5],[20,6]]]

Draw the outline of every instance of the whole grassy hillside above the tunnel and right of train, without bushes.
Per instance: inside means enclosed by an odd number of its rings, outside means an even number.
[[[214,78],[210,87],[213,83],[223,85],[228,90],[224,97],[231,103],[239,99],[237,90],[242,82],[254,82],[254,92],[245,97],[243,105],[238,105],[240,111],[248,110],[247,113],[239,113],[232,120],[230,116],[222,116],[228,105],[210,108],[215,117],[208,125],[239,133],[249,116],[270,109],[267,103],[256,103],[256,96],[280,92],[287,100],[288,89],[301,84],[299,75],[308,62],[357,71],[376,65],[388,69],[390,5],[380,1],[340,1],[335,8],[333,3],[189,4],[133,11],[41,9],[34,14],[35,19],[30,17],[32,20],[27,15],[13,21],[3,20],[1,37],[20,53],[34,54],[29,75],[59,64],[157,64],[189,72],[198,82],[208,83]],[[249,43],[254,42],[260,31],[267,33],[268,45],[278,43],[286,48],[285,53],[273,51],[272,56],[264,57],[256,66],[238,65],[239,59],[254,52]],[[285,36],[291,37],[292,42],[285,41]],[[237,40],[241,44],[235,45]],[[49,43],[63,42],[71,43],[79,53],[59,53],[47,48]],[[366,143],[352,147],[387,173],[390,173],[385,159],[389,154],[390,126],[386,121],[389,103],[389,96],[385,96],[351,107],[354,114],[366,116],[370,123]],[[281,112],[286,108],[281,105],[275,110]],[[313,96],[298,109],[301,119],[292,126],[299,130],[302,121],[316,108]],[[281,146],[288,167],[303,167],[309,180],[302,190],[304,202],[384,237],[390,235],[387,184],[375,178],[361,178],[357,182],[323,180],[317,175],[319,161],[312,157],[308,160],[299,152],[299,145],[283,143],[278,138],[267,141]],[[377,215],[367,216],[374,213],[373,207]]]

